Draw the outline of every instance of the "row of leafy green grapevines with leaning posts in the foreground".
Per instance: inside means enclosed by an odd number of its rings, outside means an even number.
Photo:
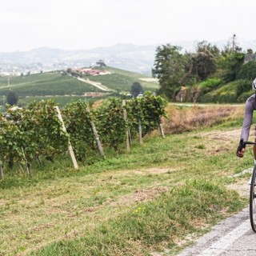
[[[0,116],[0,177],[14,163],[22,169],[46,158],[70,151],[73,163],[86,163],[89,152],[103,158],[105,148],[121,153],[130,149],[134,138],[161,128],[166,115],[166,101],[150,92],[141,98],[124,101],[110,98],[97,109],[89,110],[86,102],[71,102],[61,110],[54,101],[33,102],[24,108],[9,108]],[[163,133],[162,133],[163,134]],[[77,164],[74,164],[76,167]]]

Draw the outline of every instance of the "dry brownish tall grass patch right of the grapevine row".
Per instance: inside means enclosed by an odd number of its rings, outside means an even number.
[[[221,122],[242,118],[243,106],[198,106],[166,108],[168,118],[162,124],[166,134],[181,133],[200,127],[211,127]]]

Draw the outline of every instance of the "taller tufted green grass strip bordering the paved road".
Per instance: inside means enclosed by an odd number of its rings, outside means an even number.
[[[216,223],[243,205],[237,193],[216,182],[194,180],[133,206],[82,238],[53,243],[31,255],[135,256],[170,249],[173,254],[178,240],[206,232],[202,226]]]

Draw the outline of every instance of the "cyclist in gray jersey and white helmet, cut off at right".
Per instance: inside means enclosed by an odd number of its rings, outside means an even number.
[[[245,114],[243,118],[241,140],[240,140],[239,146],[241,145],[242,140],[244,142],[247,142],[249,138],[250,126],[253,120],[253,113],[254,113],[254,110],[256,110],[256,78],[254,78],[252,89],[254,90],[255,93],[251,95],[249,98],[247,98],[246,100],[246,108],[245,108]],[[256,142],[256,134],[255,134],[255,142]],[[242,158],[245,151],[246,151],[245,147],[242,148],[242,150],[237,150],[238,158]],[[254,145],[253,151],[254,151],[254,165],[255,165],[256,164],[256,145]]]

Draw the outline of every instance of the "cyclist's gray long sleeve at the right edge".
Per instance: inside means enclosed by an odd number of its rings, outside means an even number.
[[[251,95],[246,100],[246,109],[245,109],[245,115],[243,118],[242,132],[241,132],[241,138],[243,138],[245,142],[247,142],[249,138],[250,126],[253,120],[254,110],[256,110],[255,94]]]

